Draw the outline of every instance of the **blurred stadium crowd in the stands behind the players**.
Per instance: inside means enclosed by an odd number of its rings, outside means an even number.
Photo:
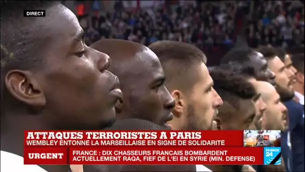
[[[64,1],[63,4],[78,16],[87,45],[101,38],[126,39],[144,45],[158,40],[182,41],[202,49],[209,66],[218,64],[241,31],[253,48],[271,44],[297,53],[303,52],[304,47],[302,1]]]

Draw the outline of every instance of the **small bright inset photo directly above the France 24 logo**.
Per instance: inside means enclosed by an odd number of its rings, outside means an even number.
[[[280,130],[244,130],[244,147],[280,147]]]

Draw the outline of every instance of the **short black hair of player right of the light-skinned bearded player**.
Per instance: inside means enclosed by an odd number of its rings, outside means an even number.
[[[237,103],[239,100],[252,99],[256,95],[253,85],[242,75],[221,68],[214,68],[210,71],[210,75],[214,81],[215,91],[236,109],[239,109]]]

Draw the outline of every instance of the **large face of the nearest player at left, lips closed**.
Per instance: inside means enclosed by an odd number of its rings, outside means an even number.
[[[102,129],[115,119],[119,82],[107,71],[109,56],[87,47],[76,16],[60,5],[49,17],[45,67],[36,76],[54,129]],[[55,14],[54,14],[55,15]]]

